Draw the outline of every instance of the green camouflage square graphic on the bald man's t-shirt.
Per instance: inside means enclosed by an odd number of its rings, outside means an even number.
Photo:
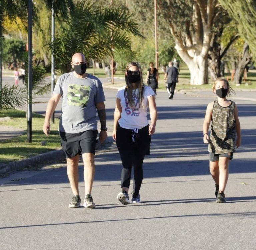
[[[90,87],[78,84],[68,84],[67,103],[69,106],[86,107]]]

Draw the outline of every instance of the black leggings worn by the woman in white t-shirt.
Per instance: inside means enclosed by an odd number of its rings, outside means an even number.
[[[134,167],[133,191],[139,193],[143,180],[143,160],[146,154],[149,154],[149,145],[151,135],[148,127],[138,130],[138,137],[132,142],[132,130],[119,126],[116,131],[116,145],[122,160],[121,187],[130,187],[132,166]]]

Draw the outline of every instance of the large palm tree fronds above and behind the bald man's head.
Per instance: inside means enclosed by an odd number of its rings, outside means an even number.
[[[78,1],[62,24],[62,33],[49,43],[56,68],[69,72],[71,57],[78,51],[86,58],[101,60],[113,53],[112,48],[131,49],[129,35],[141,36],[139,24],[132,16],[122,7],[98,7],[88,0]]]

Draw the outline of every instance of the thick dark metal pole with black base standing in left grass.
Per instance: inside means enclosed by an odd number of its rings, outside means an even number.
[[[32,142],[32,0],[28,1],[28,111],[27,137]]]

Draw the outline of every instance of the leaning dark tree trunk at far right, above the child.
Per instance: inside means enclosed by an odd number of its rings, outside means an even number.
[[[242,78],[244,74],[245,67],[251,62],[252,56],[249,54],[249,45],[245,42],[243,48],[243,57],[238,63],[236,68],[236,73],[234,77],[235,84],[242,84]]]

